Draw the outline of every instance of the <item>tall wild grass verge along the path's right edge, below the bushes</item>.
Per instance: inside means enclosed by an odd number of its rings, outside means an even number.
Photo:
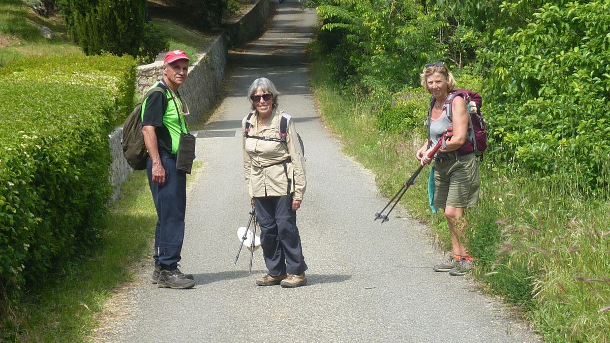
[[[423,132],[380,132],[375,106],[341,92],[328,79],[323,59],[314,60],[320,61],[312,66],[320,114],[340,136],[345,153],[372,170],[382,193],[391,197],[417,168]],[[543,184],[489,154],[480,168],[481,200],[467,212],[475,228],[468,233],[475,278],[525,309],[545,341],[610,341],[608,201],[582,197],[569,175]],[[428,207],[428,175],[425,168],[402,204],[450,247],[442,211],[434,215]]]

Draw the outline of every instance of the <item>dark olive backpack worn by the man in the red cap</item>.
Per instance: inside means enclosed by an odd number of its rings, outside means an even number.
[[[148,152],[146,152],[144,136],[142,135],[142,104],[145,99],[154,92],[161,92],[163,96],[165,96],[165,90],[163,88],[152,88],[146,92],[142,101],[135,106],[135,109],[132,110],[123,124],[123,140],[121,140],[121,144],[123,145],[123,156],[127,160],[129,166],[135,170],[146,169],[146,157],[148,157]]]

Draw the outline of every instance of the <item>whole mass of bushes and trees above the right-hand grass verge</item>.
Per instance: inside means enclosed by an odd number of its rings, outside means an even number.
[[[420,123],[420,97],[406,99],[400,90],[419,87],[426,62],[470,64],[484,78],[476,90],[484,96],[499,162],[535,171],[548,182],[570,175],[580,192],[604,196],[610,187],[601,175],[608,158],[600,158],[610,154],[610,3],[561,3],[316,0],[309,5],[317,5],[323,20],[318,42],[336,81],[372,95],[381,105],[380,129]],[[390,96],[393,92],[398,96]]]

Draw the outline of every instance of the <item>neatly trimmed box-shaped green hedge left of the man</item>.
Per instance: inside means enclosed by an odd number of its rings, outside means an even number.
[[[132,107],[134,78],[131,57],[26,59],[0,69],[0,298],[61,270],[99,236],[108,134]]]

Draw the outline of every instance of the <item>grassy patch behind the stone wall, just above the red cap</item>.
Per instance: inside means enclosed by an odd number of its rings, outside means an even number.
[[[170,50],[184,50],[191,63],[197,60],[197,52],[212,40],[211,36],[207,36],[203,32],[188,29],[166,19],[154,19],[152,23],[159,27],[165,37],[168,37]]]

